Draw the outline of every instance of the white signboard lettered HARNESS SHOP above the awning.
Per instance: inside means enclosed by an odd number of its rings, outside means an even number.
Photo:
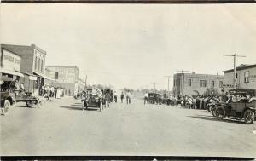
[[[1,55],[2,57],[2,55]],[[3,69],[20,71],[21,57],[3,49]]]

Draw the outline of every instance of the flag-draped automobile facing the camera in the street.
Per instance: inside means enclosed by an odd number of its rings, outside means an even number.
[[[94,92],[96,90],[96,92]],[[89,107],[96,107],[99,108],[100,111],[102,111],[102,92],[101,89],[85,89],[82,94],[82,100],[83,106],[82,110],[84,111],[84,108],[87,110]]]

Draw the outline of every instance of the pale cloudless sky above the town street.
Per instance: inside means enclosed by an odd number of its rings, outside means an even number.
[[[46,66],[79,66],[89,84],[167,89],[180,70],[256,64],[256,5],[2,3],[1,43],[36,44]],[[170,89],[173,80],[170,78]]]

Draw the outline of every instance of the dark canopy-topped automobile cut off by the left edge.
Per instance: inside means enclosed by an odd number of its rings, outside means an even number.
[[[15,92],[9,88],[6,84],[7,82],[11,82],[12,78],[1,77],[1,112],[3,115],[7,115],[9,112],[9,108],[15,105]]]

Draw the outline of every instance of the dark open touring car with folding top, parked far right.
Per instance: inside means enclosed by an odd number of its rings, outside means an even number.
[[[253,124],[256,111],[256,90],[255,89],[232,89],[230,90],[232,101],[218,105],[215,109],[217,118],[244,119],[246,124]],[[247,96],[252,97],[250,100]],[[254,98],[254,99],[253,99]]]

